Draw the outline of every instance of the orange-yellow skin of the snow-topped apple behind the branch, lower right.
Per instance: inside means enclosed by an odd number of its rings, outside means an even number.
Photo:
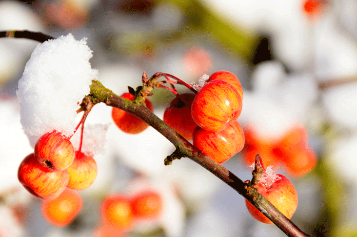
[[[258,193],[268,199],[284,216],[289,219],[298,207],[298,193],[294,185],[283,175],[279,177],[270,187],[265,187],[261,182],[258,185]],[[258,211],[247,199],[245,204],[249,213],[258,221],[266,224],[274,224]]]

